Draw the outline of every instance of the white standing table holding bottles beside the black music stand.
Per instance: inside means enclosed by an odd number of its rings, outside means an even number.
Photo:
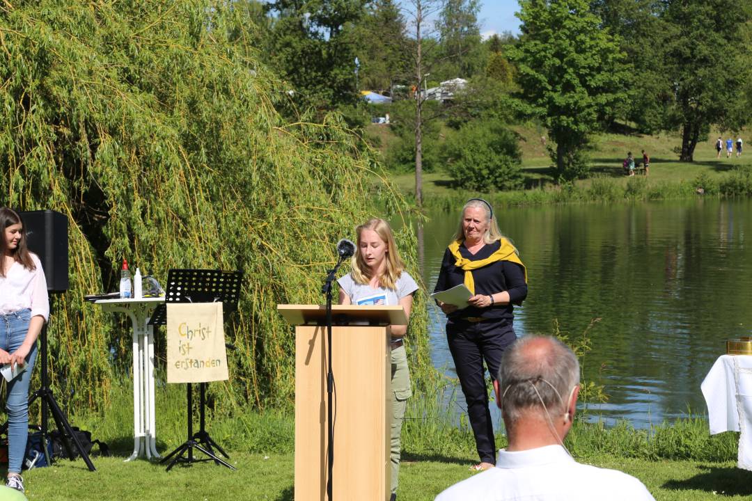
[[[95,304],[105,312],[121,312],[133,324],[133,454],[137,457],[161,457],[156,451],[154,412],[154,330],[147,325],[152,312],[165,302],[164,297],[143,299],[102,299]]]

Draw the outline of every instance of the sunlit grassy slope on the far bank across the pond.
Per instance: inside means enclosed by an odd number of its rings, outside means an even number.
[[[654,200],[696,196],[697,180],[711,185],[723,184],[732,171],[752,165],[752,154],[741,158],[726,158],[725,152],[716,158],[712,133],[708,141],[700,143],[695,150],[693,162],[678,161],[674,149],[681,146],[677,134],[647,136],[641,134],[600,134],[593,139],[590,149],[591,176],[577,180],[572,186],[555,186],[556,172],[540,142],[540,131],[530,126],[514,126],[520,137],[523,151],[523,176],[525,190],[486,194],[501,204],[544,204],[562,201],[614,201]],[[635,158],[641,157],[641,149],[650,155],[650,173],[645,177],[628,178],[623,175],[621,162],[631,151]],[[414,173],[395,174],[392,180],[408,195],[414,193]],[[699,183],[705,184],[705,183]],[[704,187],[704,186],[703,186]],[[707,191],[707,190],[706,190]],[[467,192],[454,186],[448,174],[436,171],[423,173],[423,199],[427,206],[453,207],[475,192]],[[711,195],[711,193],[708,193]],[[732,195],[738,195],[732,193]]]

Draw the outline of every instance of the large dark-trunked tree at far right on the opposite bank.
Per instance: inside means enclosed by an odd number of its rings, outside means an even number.
[[[663,127],[681,129],[682,161],[693,161],[695,147],[711,124],[741,127],[748,117],[743,95],[750,80],[749,24],[752,2],[673,0],[663,13],[666,38]]]

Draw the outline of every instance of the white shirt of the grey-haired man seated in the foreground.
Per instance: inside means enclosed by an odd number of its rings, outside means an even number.
[[[435,501],[655,501],[626,473],[572,459],[561,445],[499,451],[496,467],[454,484]]]

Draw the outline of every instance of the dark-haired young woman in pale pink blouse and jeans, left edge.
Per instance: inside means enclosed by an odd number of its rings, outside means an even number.
[[[8,382],[7,485],[23,492],[20,473],[29,434],[29,382],[37,358],[37,337],[50,314],[50,303],[41,262],[26,249],[20,216],[0,208],[0,228],[0,365],[26,363],[26,370]]]

